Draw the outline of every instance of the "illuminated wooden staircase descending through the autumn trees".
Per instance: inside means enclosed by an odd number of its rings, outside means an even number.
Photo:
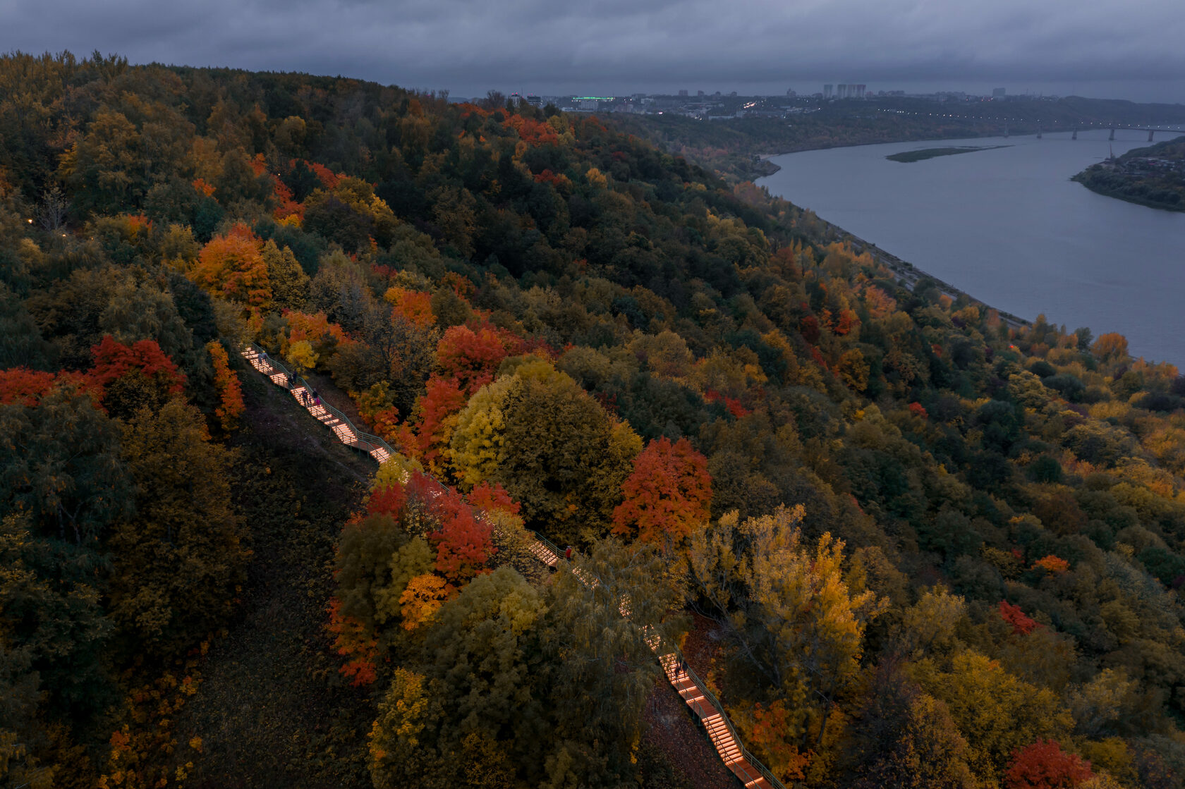
[[[312,396],[312,387],[302,378],[289,373],[282,364],[268,357],[257,346],[245,346],[242,349],[242,354],[255,370],[267,376],[267,378],[276,386],[288,391],[301,405],[301,408],[321,422],[321,424],[329,428],[333,431],[333,435],[341,443],[366,453],[379,463],[386,462],[396,454],[385,441],[378,436],[372,436],[358,430],[344,413],[329,404],[324,400],[315,403]],[[436,482],[438,489],[429,489],[429,495],[435,498],[440,495],[446,487],[438,480],[433,481]],[[527,544],[526,550],[542,564],[558,570],[561,566],[559,560],[563,556],[561,550],[544,537],[539,534],[536,534],[534,537],[536,539]],[[577,578],[579,578],[581,583],[588,586],[596,586],[601,583],[596,576],[591,575],[583,567],[569,563],[568,569]],[[619,601],[617,610],[623,617],[629,618],[632,607],[627,597],[622,597],[621,601]],[[687,666],[686,661],[684,661],[680,656],[678,649],[671,647],[660,636],[654,634],[651,626],[643,627],[642,633],[646,639],[646,644],[658,657],[659,665],[662,667],[662,672],[666,674],[667,681],[671,682],[671,686],[687,704],[691,711],[696,713],[700,725],[703,725],[704,731],[707,733],[707,739],[712,743],[712,746],[716,748],[716,752],[719,755],[720,761],[724,762],[724,765],[728,766],[745,787],[760,789],[786,789],[782,782],[775,778],[769,770],[762,766],[761,762],[749,753],[744,745],[741,744],[741,737],[737,735],[736,729],[734,729],[732,723],[724,712],[724,705],[720,704],[710,689],[707,689],[707,686],[694,673],[694,671]]]

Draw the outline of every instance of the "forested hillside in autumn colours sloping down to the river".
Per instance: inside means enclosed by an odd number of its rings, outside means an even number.
[[[1185,378],[1117,334],[596,117],[97,53],[0,59],[0,282],[5,785],[693,785],[642,623],[786,785],[1185,777]]]

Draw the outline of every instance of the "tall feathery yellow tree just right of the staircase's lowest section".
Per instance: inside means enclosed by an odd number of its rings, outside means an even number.
[[[756,712],[738,716],[742,730],[776,705],[782,742],[805,752],[824,742],[833,708],[854,688],[864,629],[886,601],[856,573],[845,575],[843,540],[826,533],[812,545],[802,517],[801,505],[744,522],[729,513],[692,533],[688,565],[696,590],[729,627],[737,668],[754,688],[752,698],[735,700]],[[795,761],[793,753],[784,759]]]

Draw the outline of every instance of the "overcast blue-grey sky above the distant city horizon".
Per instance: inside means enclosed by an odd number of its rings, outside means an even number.
[[[0,0],[0,50],[346,75],[454,96],[1076,92],[1185,103],[1183,0]]]

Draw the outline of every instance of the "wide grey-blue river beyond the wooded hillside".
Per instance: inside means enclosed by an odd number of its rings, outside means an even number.
[[[1148,145],[1115,136],[1116,156]],[[1008,147],[885,159],[946,146]],[[1106,130],[856,146],[775,156],[781,169],[758,184],[985,303],[1120,332],[1132,355],[1185,370],[1185,213],[1070,180],[1107,153]]]

